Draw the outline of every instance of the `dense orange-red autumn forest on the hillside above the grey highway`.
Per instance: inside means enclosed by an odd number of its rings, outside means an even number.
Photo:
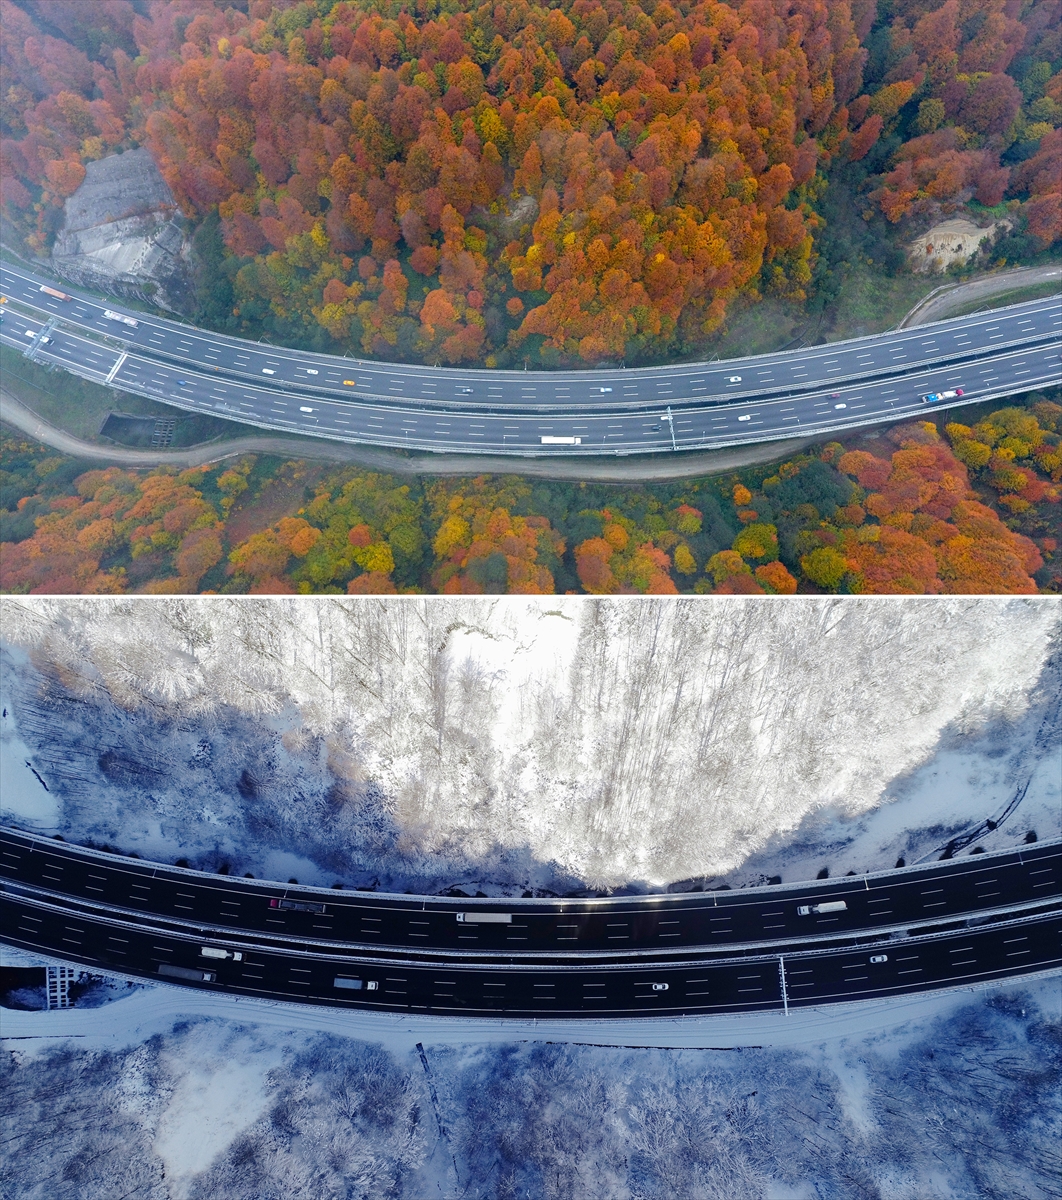
[[[1062,234],[1057,0],[0,0],[5,212],[47,250],[146,145],[198,228],[197,318],[487,366],[696,353],[851,247],[1007,212]],[[1016,250],[1014,248],[1016,247]]]

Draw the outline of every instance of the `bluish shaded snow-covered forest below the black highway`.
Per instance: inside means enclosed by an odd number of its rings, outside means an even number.
[[[1056,979],[797,1046],[425,1043],[253,1016],[11,1042],[7,1187],[20,1200],[1058,1194]]]

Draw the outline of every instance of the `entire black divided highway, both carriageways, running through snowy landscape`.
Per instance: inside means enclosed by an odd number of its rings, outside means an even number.
[[[706,1014],[1062,966],[1058,842],[797,888],[554,901],[284,887],[14,830],[4,830],[0,854],[0,931],[12,946],[304,1003],[466,1015]],[[716,928],[718,916],[728,929]],[[372,920],[380,928],[367,935]],[[678,938],[672,920],[683,926]],[[514,944],[521,926],[526,941]],[[575,930],[574,941],[563,930]]]

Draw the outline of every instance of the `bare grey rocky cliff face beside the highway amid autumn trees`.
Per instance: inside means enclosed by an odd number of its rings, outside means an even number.
[[[86,166],[84,182],[66,202],[52,262],[73,283],[191,311],[190,242],[173,193],[144,149]]]

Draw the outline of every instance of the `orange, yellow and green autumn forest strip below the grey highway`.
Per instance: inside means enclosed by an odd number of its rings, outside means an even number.
[[[979,406],[990,409],[991,406]],[[0,444],[8,593],[1062,593],[1062,404],[900,425],[676,484],[431,479]]]

